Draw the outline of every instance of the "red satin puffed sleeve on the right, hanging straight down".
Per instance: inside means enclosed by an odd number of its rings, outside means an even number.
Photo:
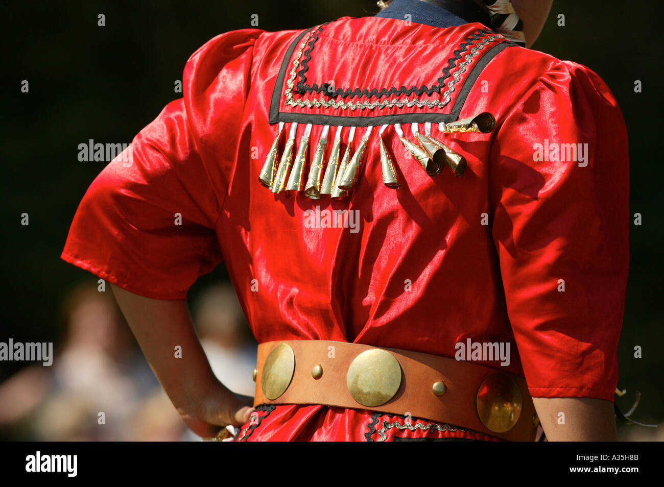
[[[499,120],[492,234],[533,397],[613,401],[629,264],[627,133],[606,84],[553,61]]]

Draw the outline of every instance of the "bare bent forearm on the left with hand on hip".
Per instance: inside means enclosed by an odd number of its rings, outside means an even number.
[[[219,382],[193,328],[185,300],[150,299],[112,285],[127,323],[155,376],[187,426],[212,437],[220,426],[243,425],[253,398]],[[176,347],[181,347],[181,358]]]

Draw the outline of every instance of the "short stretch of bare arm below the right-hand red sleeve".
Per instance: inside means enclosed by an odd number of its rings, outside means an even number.
[[[533,397],[533,403],[548,441],[618,439],[611,401],[584,397]]]

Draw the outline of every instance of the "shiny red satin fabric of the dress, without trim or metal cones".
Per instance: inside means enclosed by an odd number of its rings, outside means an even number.
[[[319,33],[307,82],[430,86],[478,29],[342,18]],[[388,127],[382,137],[402,186],[387,188],[376,127],[349,198],[275,196],[258,174],[277,135],[268,123],[276,78],[299,33],[244,29],[195,52],[184,98],[135,137],[131,164],[118,158],[92,182],[62,258],[156,299],[185,299],[197,277],[224,259],[258,342],[339,340],[452,357],[467,338],[509,342],[511,364],[490,365],[525,376],[531,395],[612,401],[628,267],[628,159],[606,84],[579,64],[505,48],[459,113],[489,111],[493,133],[432,127],[467,159],[461,177],[447,169],[428,176]],[[453,101],[469,71],[458,62],[456,69]],[[450,111],[293,108],[280,95],[280,111],[290,113]],[[295,94],[302,96],[312,95]],[[410,124],[402,127],[412,139]],[[296,143],[304,129],[300,123]],[[310,156],[321,130],[313,125]],[[559,162],[551,152],[536,161],[537,144],[588,144],[588,158]],[[357,233],[308,228],[305,212],[317,206],[358,210]],[[278,428],[266,427],[270,417]],[[365,439],[370,421],[367,412],[282,406],[250,438]]]

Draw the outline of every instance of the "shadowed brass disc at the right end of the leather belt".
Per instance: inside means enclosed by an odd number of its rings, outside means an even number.
[[[519,385],[507,374],[492,374],[479,386],[477,415],[491,431],[509,431],[519,421],[521,407],[523,401]]]

